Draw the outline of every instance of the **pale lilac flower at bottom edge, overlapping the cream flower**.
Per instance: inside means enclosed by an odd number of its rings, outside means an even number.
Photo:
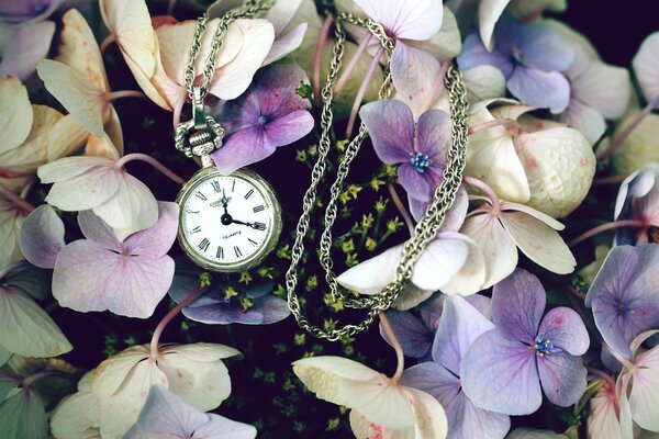
[[[139,418],[124,439],[254,439],[256,428],[199,412],[160,385],[150,387]]]

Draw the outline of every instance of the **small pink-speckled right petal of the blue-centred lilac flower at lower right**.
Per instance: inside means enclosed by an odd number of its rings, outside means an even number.
[[[545,334],[551,344],[573,356],[582,356],[590,346],[590,337],[583,320],[566,306],[559,306],[547,313],[540,322],[538,333]]]

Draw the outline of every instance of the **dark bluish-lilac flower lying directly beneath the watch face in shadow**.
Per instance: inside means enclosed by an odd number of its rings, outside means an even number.
[[[275,284],[265,283],[248,289],[244,294],[234,290],[211,290],[192,305],[183,308],[183,315],[206,325],[269,325],[283,320],[291,313],[283,299],[270,294]],[[176,302],[188,297],[199,288],[194,278],[177,275],[169,295]]]

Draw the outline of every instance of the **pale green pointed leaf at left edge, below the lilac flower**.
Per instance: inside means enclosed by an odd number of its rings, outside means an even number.
[[[72,349],[55,322],[25,293],[0,289],[0,345],[23,357],[57,357]]]

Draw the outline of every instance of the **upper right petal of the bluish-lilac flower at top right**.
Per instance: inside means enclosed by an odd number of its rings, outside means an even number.
[[[522,25],[520,53],[524,65],[539,70],[563,71],[574,60],[574,49],[552,29],[539,24]]]

